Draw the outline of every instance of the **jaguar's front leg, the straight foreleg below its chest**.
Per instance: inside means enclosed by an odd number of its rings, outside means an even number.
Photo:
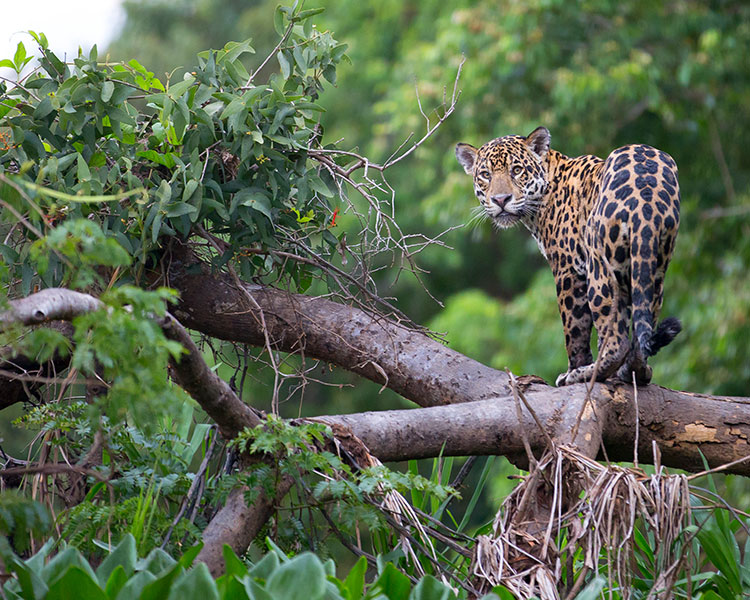
[[[586,298],[586,278],[575,271],[566,270],[555,277],[557,307],[565,333],[568,352],[568,370],[560,373],[556,386],[566,385],[568,375],[593,362],[591,356],[591,310]]]

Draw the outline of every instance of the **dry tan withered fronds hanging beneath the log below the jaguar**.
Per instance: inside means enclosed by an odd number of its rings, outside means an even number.
[[[648,476],[640,469],[599,464],[562,446],[543,456],[506,498],[493,536],[477,539],[473,574],[482,593],[504,585],[520,598],[557,600],[563,561],[572,588],[572,554],[580,549],[579,579],[606,565],[610,587],[628,598],[641,522],[652,534],[654,569],[660,573],[654,585],[660,591],[649,597],[667,597],[689,557],[687,544],[676,542],[690,521],[684,475],[657,468]]]

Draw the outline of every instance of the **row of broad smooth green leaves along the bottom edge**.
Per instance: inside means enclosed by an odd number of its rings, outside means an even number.
[[[178,560],[162,550],[138,558],[135,539],[127,535],[94,569],[74,548],[48,559],[51,545],[45,545],[28,560],[21,560],[0,540],[0,556],[15,575],[3,586],[6,595],[24,600],[62,598],[76,590],[80,597],[114,600],[130,598],[193,598],[232,600],[434,600],[455,597],[452,590],[427,575],[412,586],[409,579],[386,563],[375,580],[365,586],[367,562],[361,558],[349,574],[339,579],[332,560],[322,562],[306,552],[288,558],[269,552],[255,564],[246,564],[224,547],[227,573],[214,580],[206,565],[193,560],[199,546],[187,550]],[[46,564],[45,564],[46,562]],[[493,595],[483,600],[492,600]]]

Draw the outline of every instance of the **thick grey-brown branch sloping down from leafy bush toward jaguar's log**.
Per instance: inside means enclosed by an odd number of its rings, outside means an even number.
[[[240,290],[229,275],[210,273],[184,246],[173,247],[168,283],[180,292],[174,315],[190,329],[264,346],[261,323],[265,320],[275,349],[304,351],[385,385],[420,406],[511,393],[505,373],[396,321],[325,298],[252,284]]]

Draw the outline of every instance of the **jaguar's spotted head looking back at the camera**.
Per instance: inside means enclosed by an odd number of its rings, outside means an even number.
[[[474,177],[474,192],[485,214],[498,227],[511,227],[531,219],[547,193],[545,159],[549,131],[537,127],[527,137],[507,135],[477,149],[456,146],[456,158]]]

